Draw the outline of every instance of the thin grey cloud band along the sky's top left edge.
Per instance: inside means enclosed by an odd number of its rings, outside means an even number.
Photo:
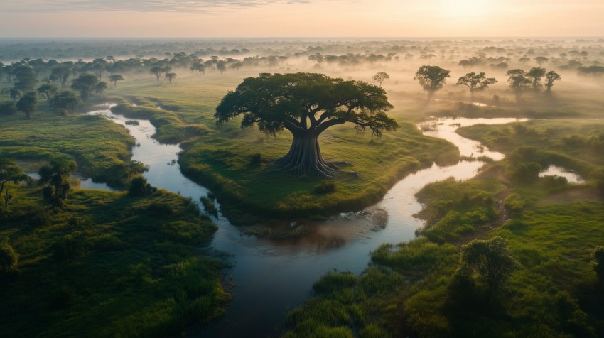
[[[6,0],[0,0],[4,2]],[[131,11],[131,12],[204,12],[244,9],[269,4],[310,4],[328,0],[23,0],[2,4],[5,12],[59,11]]]

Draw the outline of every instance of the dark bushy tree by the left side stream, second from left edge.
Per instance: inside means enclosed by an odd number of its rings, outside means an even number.
[[[75,162],[64,158],[55,158],[49,165],[44,165],[38,172],[40,184],[48,184],[42,190],[44,199],[50,202],[54,212],[65,206],[71,190],[70,175],[75,171]]]

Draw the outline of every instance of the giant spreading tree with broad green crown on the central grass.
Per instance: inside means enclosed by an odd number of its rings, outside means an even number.
[[[318,136],[330,126],[350,122],[369,128],[375,136],[397,128],[386,115],[392,109],[384,89],[360,81],[345,81],[323,74],[261,74],[248,77],[228,92],[216,107],[217,124],[243,115],[242,128],[258,124],[275,135],[293,134],[286,156],[274,162],[277,170],[303,175],[333,176],[338,168],[321,156]]]

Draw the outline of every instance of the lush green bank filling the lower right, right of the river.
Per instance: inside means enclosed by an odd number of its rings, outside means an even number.
[[[473,180],[424,187],[421,236],[384,244],[361,276],[319,280],[315,296],[288,315],[285,337],[601,337],[604,289],[593,250],[604,244],[602,126],[537,120],[462,129],[506,159]],[[537,178],[538,170],[522,169],[528,163],[562,165],[587,182]],[[515,263],[489,290],[480,269],[464,274],[462,255],[474,239],[496,237]]]

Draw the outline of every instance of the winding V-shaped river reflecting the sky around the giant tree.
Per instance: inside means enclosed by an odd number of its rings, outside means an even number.
[[[122,124],[136,138],[133,160],[149,165],[144,176],[149,183],[198,202],[207,195],[205,187],[185,178],[178,168],[178,145],[160,144],[151,136],[155,127],[146,120],[128,125],[124,116],[114,115],[109,106],[88,114],[102,115]],[[445,138],[458,146],[462,156],[503,158],[476,141],[455,133],[460,126],[505,124],[517,119],[434,119],[422,124],[428,136]],[[419,170],[392,187],[381,202],[359,212],[338,214],[323,222],[292,222],[305,227],[306,234],[295,239],[264,239],[242,234],[222,216],[215,219],[219,230],[212,249],[224,253],[233,264],[227,281],[236,285],[235,297],[227,314],[217,322],[195,332],[194,337],[278,337],[284,329],[286,311],[301,304],[311,293],[313,283],[329,271],[359,274],[367,267],[370,251],[382,243],[413,239],[423,225],[414,214],[421,205],[415,193],[430,182],[453,177],[467,180],[484,163],[461,160],[455,165]],[[201,207],[201,206],[200,206]],[[202,207],[203,208],[203,207]]]

